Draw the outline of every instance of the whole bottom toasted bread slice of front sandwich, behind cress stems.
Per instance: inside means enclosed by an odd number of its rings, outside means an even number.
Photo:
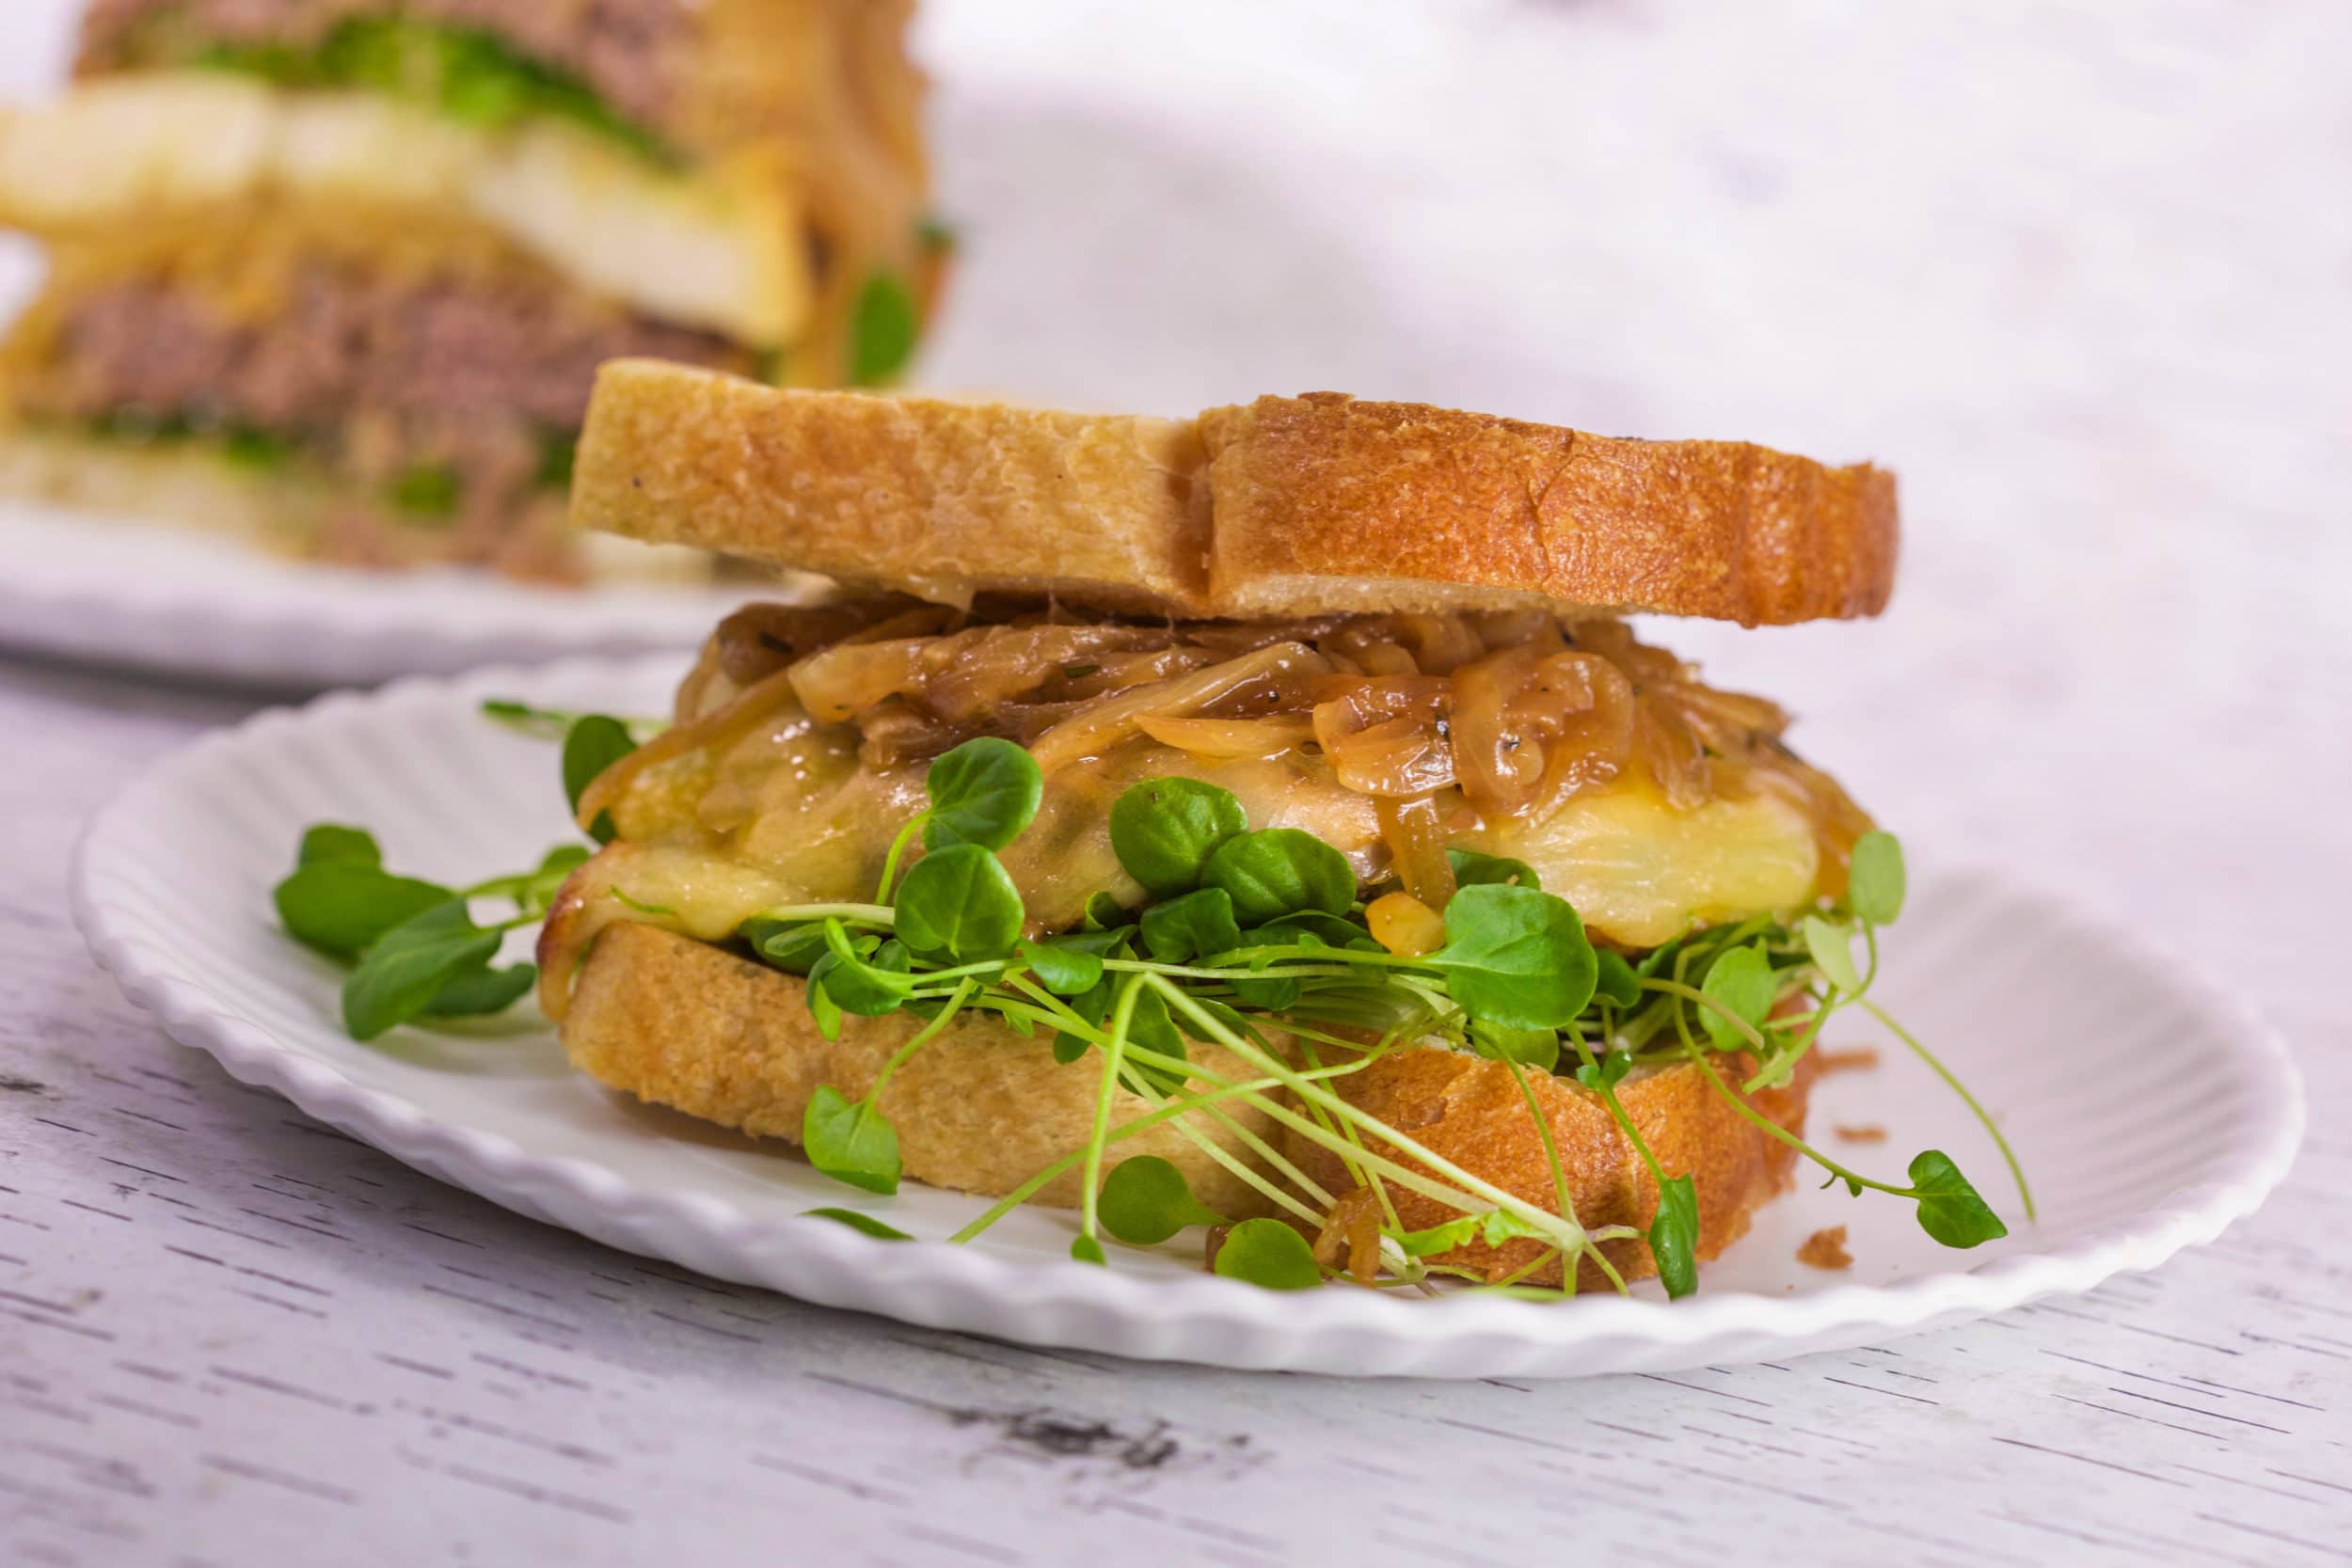
[[[595,938],[581,964],[562,1041],[574,1067],[640,1100],[797,1143],[802,1112],[821,1084],[851,1098],[863,1095],[882,1063],[917,1027],[917,1020],[901,1016],[844,1018],[842,1037],[828,1041],[816,1032],[807,987],[795,976],[654,926],[614,924]],[[1192,1060],[1228,1081],[1254,1077],[1214,1046],[1195,1044]],[[1738,1070],[1740,1058],[1726,1058],[1722,1072]],[[1096,1074],[1098,1065],[1056,1063],[1051,1041],[1042,1034],[1023,1039],[974,1018],[950,1025],[908,1058],[882,1091],[882,1112],[898,1128],[910,1178],[995,1197],[1084,1147],[1094,1124]],[[1656,1182],[1606,1107],[1550,1074],[1531,1074],[1529,1081],[1559,1147],[1576,1218],[1588,1227],[1649,1225],[1658,1204]],[[1397,1051],[1334,1084],[1374,1117],[1406,1128],[1430,1152],[1531,1204],[1557,1206],[1536,1124],[1501,1063],[1456,1051]],[[1780,1126],[1802,1128],[1809,1086],[1809,1077],[1799,1077],[1785,1091],[1757,1095],[1755,1105]],[[1717,1255],[1745,1234],[1755,1208],[1788,1187],[1788,1145],[1740,1119],[1696,1067],[1644,1072],[1630,1077],[1618,1093],[1665,1171],[1698,1178],[1700,1258]],[[1120,1126],[1145,1112],[1148,1100],[1120,1091],[1110,1119]],[[1249,1107],[1228,1105],[1228,1114],[1261,1138],[1282,1135],[1265,1114]],[[1192,1124],[1265,1171],[1211,1121],[1195,1117]],[[1350,1187],[1334,1154],[1296,1133],[1289,1133],[1289,1157],[1329,1192]],[[1272,1208],[1174,1126],[1152,1126],[1110,1145],[1108,1164],[1134,1154],[1174,1161],[1192,1192],[1230,1218]],[[1414,1229],[1454,1213],[1402,1187],[1390,1187],[1390,1197],[1399,1220]],[[1080,1178],[1068,1171],[1030,1201],[1070,1208],[1077,1199]],[[1446,1253],[1442,1262],[1503,1276],[1536,1251],[1536,1241],[1508,1241],[1501,1248],[1472,1244]],[[1604,1251],[1630,1279],[1653,1272],[1639,1241],[1611,1241]],[[1538,1269],[1531,1279],[1545,1281],[1545,1274]],[[1550,1265],[1548,1281],[1559,1281],[1557,1262]],[[1585,1265],[1578,1286],[1602,1284],[1602,1272]]]

